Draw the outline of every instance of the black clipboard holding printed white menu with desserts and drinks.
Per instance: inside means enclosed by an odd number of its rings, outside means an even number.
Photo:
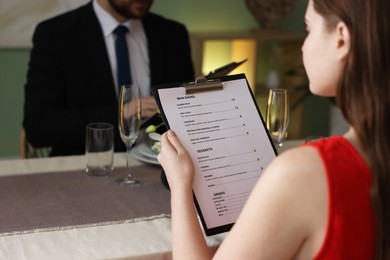
[[[205,234],[229,231],[277,156],[245,75],[156,86],[153,96],[194,161],[194,202]]]

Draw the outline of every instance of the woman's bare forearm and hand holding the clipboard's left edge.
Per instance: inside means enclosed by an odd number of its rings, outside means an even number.
[[[172,248],[174,259],[211,259],[194,207],[194,165],[175,133],[163,134],[158,161],[171,189]]]

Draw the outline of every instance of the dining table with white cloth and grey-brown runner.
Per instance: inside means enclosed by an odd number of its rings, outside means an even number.
[[[132,188],[115,183],[127,174],[125,153],[114,153],[107,178],[89,177],[85,164],[85,155],[0,160],[0,259],[172,259],[158,162],[133,153],[142,185]],[[225,236],[205,235],[212,252]]]

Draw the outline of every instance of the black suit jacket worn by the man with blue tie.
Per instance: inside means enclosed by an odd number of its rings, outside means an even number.
[[[143,19],[151,85],[194,78],[186,28],[149,13]],[[131,51],[131,50],[130,50]],[[92,2],[40,23],[33,36],[23,126],[36,147],[52,155],[82,154],[86,125],[109,122],[115,150],[124,150],[117,127],[117,98],[102,29]]]

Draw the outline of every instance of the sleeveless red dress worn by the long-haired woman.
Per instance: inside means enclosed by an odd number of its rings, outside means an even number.
[[[341,136],[304,145],[317,149],[328,180],[326,237],[315,259],[373,259],[375,220],[370,201],[372,176],[367,164]]]

